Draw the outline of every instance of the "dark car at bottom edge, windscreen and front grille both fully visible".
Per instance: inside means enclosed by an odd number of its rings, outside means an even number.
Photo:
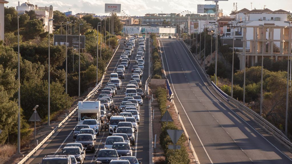
[[[95,163],[107,164],[110,163],[111,160],[119,159],[120,155],[118,155],[116,149],[100,149],[98,154],[95,155],[96,160]]]

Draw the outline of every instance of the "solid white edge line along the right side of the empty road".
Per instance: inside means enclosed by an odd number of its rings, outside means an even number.
[[[185,50],[185,47],[183,46],[183,44],[180,42],[180,41],[178,41],[181,45],[182,45],[182,47],[183,47],[183,49]],[[190,58],[190,56],[188,55],[188,53],[187,53],[187,51],[185,50],[185,53],[187,54],[187,56],[189,57],[189,59],[190,59],[190,61],[192,62],[192,64],[193,64],[193,66],[194,66],[194,68],[197,70],[197,68],[195,67],[195,65],[194,65],[194,63],[193,63],[193,61],[191,60],[191,58]],[[164,54],[165,55],[165,54]],[[198,70],[197,70],[197,72],[199,72]],[[200,75],[200,73],[199,73],[199,76],[201,77],[201,75]],[[201,80],[204,82],[204,80],[203,80],[203,78],[201,77]],[[205,83],[204,83],[205,84]],[[205,84],[206,85],[206,84]],[[212,92],[211,92],[211,90],[207,87],[207,89],[209,90],[209,92],[219,101],[219,102],[221,102]],[[237,113],[235,113],[233,110],[231,110],[229,107],[227,107],[227,105],[225,104],[225,103],[223,103],[223,102],[221,102],[222,104],[224,104],[224,106],[227,108],[227,109],[229,109],[233,114],[235,114],[236,116],[238,116],[243,122],[245,122],[249,127],[251,127],[256,133],[258,133],[261,137],[263,137],[267,142],[269,142],[275,149],[277,149],[281,154],[283,154],[284,156],[286,156],[289,160],[291,160],[292,161],[292,159],[290,158],[290,157],[288,157],[285,153],[283,153],[282,151],[280,151],[274,144],[272,144],[268,139],[266,139],[263,135],[261,135],[260,134],[260,132],[258,132],[256,129],[254,129],[251,125],[249,125],[243,118],[241,118]],[[252,161],[252,160],[251,160]]]

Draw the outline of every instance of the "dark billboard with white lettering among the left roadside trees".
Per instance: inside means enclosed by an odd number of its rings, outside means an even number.
[[[66,35],[54,35],[54,46],[65,45]],[[67,47],[79,48],[79,35],[67,35]],[[80,48],[85,48],[85,36],[80,36]]]

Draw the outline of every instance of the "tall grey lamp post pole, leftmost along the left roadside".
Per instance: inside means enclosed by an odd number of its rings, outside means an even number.
[[[19,15],[17,15],[18,34],[18,117],[17,117],[17,153],[20,154],[20,55],[19,55]]]

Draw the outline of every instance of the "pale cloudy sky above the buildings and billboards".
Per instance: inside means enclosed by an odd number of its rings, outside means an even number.
[[[17,0],[9,1],[5,6],[16,7],[18,6]],[[19,0],[20,4],[27,2],[27,0]],[[197,13],[198,4],[215,4],[213,1],[204,0],[29,0],[31,4],[38,5],[40,7],[53,6],[53,10],[59,10],[61,12],[72,11],[76,13],[95,13],[96,15],[109,15],[104,13],[105,3],[107,4],[121,4],[121,10],[124,10],[126,14],[131,16],[144,16],[147,13],[181,13],[182,11],[191,11]],[[220,1],[219,9],[223,9],[224,15],[229,15],[234,9],[233,3],[237,2],[238,10],[247,8],[263,9],[269,8],[272,11],[285,10],[292,12],[291,0],[229,0]]]

